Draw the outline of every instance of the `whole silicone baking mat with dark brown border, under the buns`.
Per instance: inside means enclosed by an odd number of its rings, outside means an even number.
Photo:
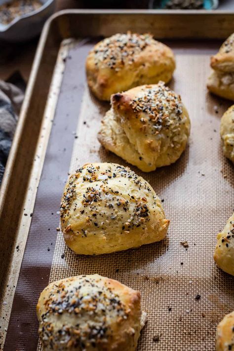
[[[56,231],[59,199],[67,173],[80,165],[107,161],[126,164],[100,147],[96,138],[109,104],[97,101],[86,87],[84,61],[93,42],[63,44],[69,45],[69,52],[5,350],[36,350],[35,307],[48,274],[49,281],[54,281],[93,273],[141,291],[148,322],[138,350],[214,349],[216,325],[234,309],[234,279],[213,261],[216,234],[234,207],[233,166],[223,157],[219,136],[220,118],[231,103],[210,95],[205,87],[209,56],[219,43],[209,48],[202,42],[169,44],[177,62],[169,86],[181,94],[189,111],[189,145],[174,165],[155,172],[143,174],[130,166],[164,200],[166,218],[171,221],[168,235],[159,243],[99,257],[76,256],[64,245],[61,232]],[[185,240],[188,250],[180,244]],[[197,294],[200,300],[195,300]],[[20,331],[15,328],[17,323]],[[158,342],[155,337],[159,337]]]

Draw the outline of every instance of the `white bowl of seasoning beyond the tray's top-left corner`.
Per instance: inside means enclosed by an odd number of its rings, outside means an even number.
[[[19,43],[38,36],[54,4],[55,0],[0,0],[0,39]]]

